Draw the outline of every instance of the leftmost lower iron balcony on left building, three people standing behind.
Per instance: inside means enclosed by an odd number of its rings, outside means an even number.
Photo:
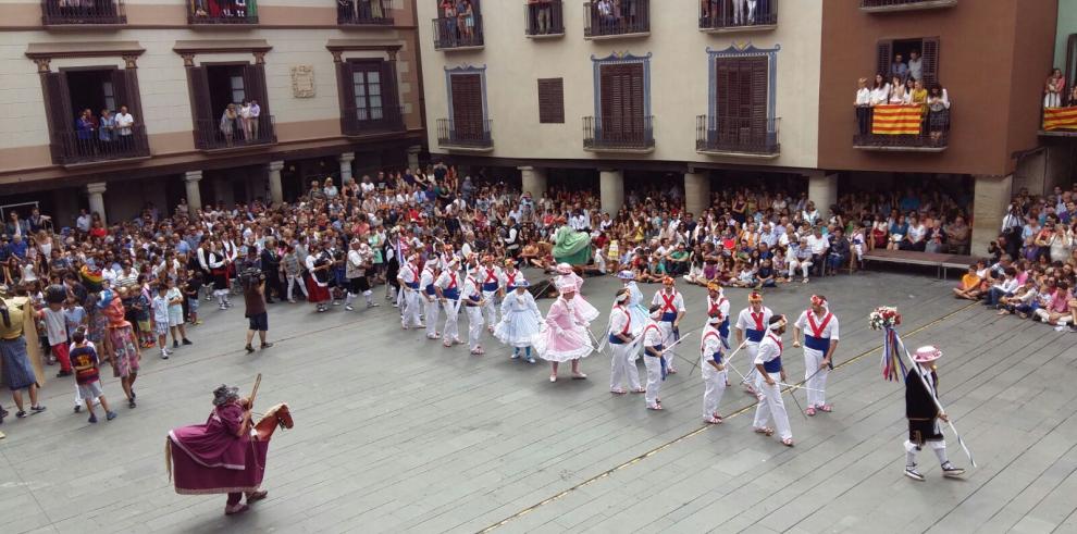
[[[70,129],[51,134],[53,162],[60,165],[78,165],[107,161],[149,158],[146,127],[141,124],[110,132]]]

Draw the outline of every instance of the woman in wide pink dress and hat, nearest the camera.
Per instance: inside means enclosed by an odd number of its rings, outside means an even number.
[[[553,365],[549,382],[557,382],[557,364],[562,361],[572,362],[572,380],[584,380],[587,375],[580,372],[580,359],[594,350],[591,333],[587,331],[590,321],[580,312],[577,306],[577,286],[570,280],[557,281],[560,297],[554,301],[546,312],[546,321],[532,346],[543,360]]]

